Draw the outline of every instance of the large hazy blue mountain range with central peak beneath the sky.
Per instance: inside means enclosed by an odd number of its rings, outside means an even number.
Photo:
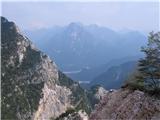
[[[138,31],[116,32],[97,25],[70,23],[37,31],[25,31],[33,42],[52,58],[62,71],[80,71],[113,59],[140,55],[146,36]]]

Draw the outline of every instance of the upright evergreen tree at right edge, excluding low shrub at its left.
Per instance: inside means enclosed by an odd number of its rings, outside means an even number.
[[[142,47],[145,58],[139,60],[139,80],[143,80],[146,90],[160,94],[160,32],[151,32],[148,44]]]

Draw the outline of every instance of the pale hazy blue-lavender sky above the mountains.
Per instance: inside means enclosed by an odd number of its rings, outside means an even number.
[[[114,30],[159,29],[158,2],[3,2],[2,15],[22,29],[70,22],[98,24]]]

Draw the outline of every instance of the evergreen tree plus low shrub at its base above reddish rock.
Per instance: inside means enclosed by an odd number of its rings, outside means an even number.
[[[160,95],[160,33],[151,32],[147,46],[141,51],[145,58],[139,60],[138,70],[125,86]]]

